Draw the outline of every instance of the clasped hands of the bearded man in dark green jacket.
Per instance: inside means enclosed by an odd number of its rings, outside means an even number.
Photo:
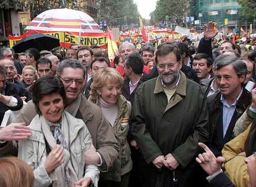
[[[179,166],[179,162],[177,162],[171,153],[167,154],[166,156],[161,155],[156,157],[152,163],[157,169],[162,169],[162,167],[165,166],[170,170],[174,170]]]

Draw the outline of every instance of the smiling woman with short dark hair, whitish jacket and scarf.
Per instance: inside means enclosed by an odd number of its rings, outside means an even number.
[[[33,84],[32,92],[38,114],[28,126],[32,135],[19,141],[19,157],[34,170],[34,186],[97,186],[98,167],[84,161],[92,138],[81,119],[64,111],[61,81],[43,77]]]

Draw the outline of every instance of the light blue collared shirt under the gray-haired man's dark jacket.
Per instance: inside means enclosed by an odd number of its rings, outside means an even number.
[[[237,101],[239,100],[239,98],[242,95],[242,90],[240,92],[240,94],[238,95],[238,97],[236,98],[236,101],[234,101],[233,104],[229,105],[226,100],[224,99],[223,95],[221,94],[221,103],[223,103],[223,138],[226,135],[226,132],[228,130],[228,126],[230,124],[230,121],[233,117],[234,111],[236,110],[236,104]]]

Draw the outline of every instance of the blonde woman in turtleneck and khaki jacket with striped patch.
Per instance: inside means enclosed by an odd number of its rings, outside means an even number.
[[[119,144],[119,157],[113,169],[101,173],[99,186],[126,187],[129,185],[132,159],[127,141],[129,130],[130,102],[121,95],[122,77],[113,68],[97,72],[92,82],[89,100],[100,106],[103,115],[113,127]]]

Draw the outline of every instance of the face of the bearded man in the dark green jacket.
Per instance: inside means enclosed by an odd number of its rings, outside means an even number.
[[[176,82],[182,65],[181,62],[177,62],[176,55],[170,52],[168,55],[157,57],[157,60],[157,70],[164,85],[169,86]]]

